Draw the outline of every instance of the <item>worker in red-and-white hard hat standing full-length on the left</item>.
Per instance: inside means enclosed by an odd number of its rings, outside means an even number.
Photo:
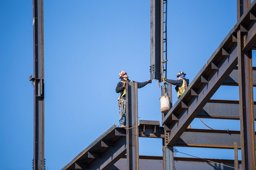
[[[117,83],[117,87],[116,87],[116,92],[120,93],[120,96],[118,98],[118,105],[121,108],[121,111],[119,109],[119,114],[120,114],[119,124],[121,127],[126,128],[126,125],[125,125],[126,124],[126,121],[125,121],[125,112],[126,112],[125,85],[127,82],[134,82],[134,81],[128,79],[129,76],[127,75],[127,73],[125,71],[119,72],[119,78],[121,80]],[[152,81],[148,80],[148,81],[145,81],[142,83],[138,82],[138,88],[144,87],[148,83],[152,83]]]

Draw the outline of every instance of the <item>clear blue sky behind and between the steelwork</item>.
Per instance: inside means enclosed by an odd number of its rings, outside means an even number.
[[[115,87],[121,70],[131,80],[150,79],[149,2],[45,0],[46,170],[63,168],[118,124]],[[32,0],[0,1],[0,160],[5,170],[32,169],[32,15]],[[192,81],[236,20],[236,0],[169,0],[167,78],[176,79],[182,70]],[[138,93],[139,117],[161,120],[158,81]],[[173,102],[176,96],[173,91]],[[213,98],[238,100],[238,87],[220,87]],[[214,129],[240,129],[237,120],[203,121]],[[198,119],[191,125],[207,129]],[[140,155],[162,156],[160,139],[140,138],[139,147]],[[178,150],[203,158],[233,159],[232,149]]]

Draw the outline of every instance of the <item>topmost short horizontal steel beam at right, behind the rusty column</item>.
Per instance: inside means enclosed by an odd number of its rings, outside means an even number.
[[[256,87],[256,67],[252,67],[253,86]],[[238,67],[236,67],[227,79],[222,83],[223,86],[238,86]]]

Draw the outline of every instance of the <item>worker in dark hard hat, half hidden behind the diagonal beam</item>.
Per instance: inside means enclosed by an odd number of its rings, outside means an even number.
[[[188,87],[189,80],[186,79],[186,74],[182,71],[177,72],[177,79],[178,80],[169,80],[164,78],[164,81],[167,83],[171,83],[173,85],[176,85],[175,90],[177,91],[177,97],[180,98],[181,94],[184,93],[186,88]],[[190,129],[191,126],[189,125],[188,128]]]

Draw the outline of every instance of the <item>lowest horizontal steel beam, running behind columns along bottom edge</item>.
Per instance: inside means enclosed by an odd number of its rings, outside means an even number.
[[[126,157],[124,156],[109,170],[123,170],[126,167],[126,162]],[[217,163],[234,167],[234,160],[174,157],[175,170],[233,170],[233,168]],[[241,169],[241,161],[238,161],[238,163],[238,168]],[[143,170],[163,170],[162,156],[139,156],[139,167]]]

